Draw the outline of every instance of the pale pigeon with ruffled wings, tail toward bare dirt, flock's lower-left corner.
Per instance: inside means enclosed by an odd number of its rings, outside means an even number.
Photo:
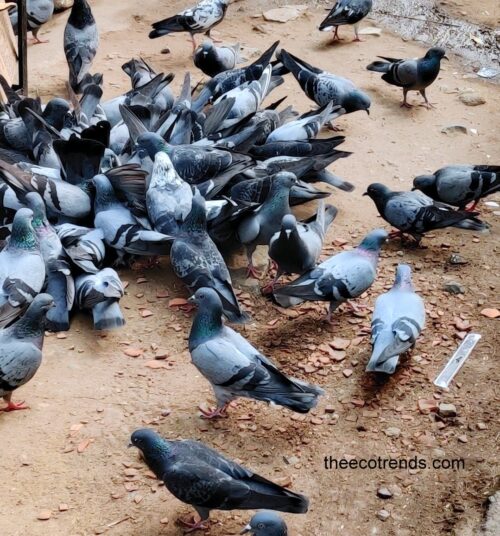
[[[76,278],[76,305],[91,310],[95,330],[116,329],[125,325],[119,301],[125,289],[112,268],[96,274],[82,274]]]

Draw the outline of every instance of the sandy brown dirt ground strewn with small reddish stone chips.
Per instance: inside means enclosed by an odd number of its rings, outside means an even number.
[[[186,70],[193,72],[194,80],[201,78],[192,66],[185,36],[147,38],[152,21],[185,5],[171,0],[92,2],[101,32],[95,67],[104,73],[106,97],[128,88],[120,65],[132,56],[176,73],[176,89]],[[400,91],[382,83],[365,65],[378,54],[420,56],[421,48],[387,32],[366,36],[363,43],[346,40],[330,46],[329,37],[315,30],[322,10],[281,25],[255,18],[258,12],[252,6],[251,1],[232,6],[217,36],[228,43],[241,42],[247,52],[261,51],[280,39],[283,47],[307,61],[351,78],[373,99],[369,117],[357,113],[339,121],[347,137],[343,148],[354,155],[334,169],[356,190],[332,192],[339,215],[325,254],[350,248],[376,226],[388,228],[372,202],[361,196],[369,183],[408,189],[415,175],[449,163],[499,163],[498,87],[464,78],[458,58],[444,64],[429,91],[435,110],[403,110]],[[64,91],[66,18],[67,13],[58,15],[43,32],[50,44],[29,50],[31,92],[44,99]],[[350,37],[350,30],[343,33]],[[166,46],[171,53],[160,54]],[[482,94],[486,104],[462,104],[458,91],[467,88]],[[283,95],[301,111],[311,106],[292,79],[272,98]],[[418,99],[411,96],[412,101]],[[441,133],[450,124],[476,129],[477,135]],[[500,196],[491,200],[500,201]],[[311,206],[303,212],[313,210]],[[429,235],[422,249],[403,250],[399,242],[385,248],[379,277],[358,302],[371,308],[392,283],[395,266],[408,262],[426,300],[428,326],[409,359],[383,383],[364,372],[370,355],[369,311],[355,316],[341,308],[333,326],[323,321],[323,306],[284,312],[244,280],[239,259],[233,262],[235,286],[254,318],[241,332],[286,372],[326,390],[317,410],[306,417],[240,401],[228,419],[203,421],[197,407],[211,403],[212,393],[190,363],[190,316],[169,307],[170,299],[186,296],[185,290],[173,277],[168,259],[143,273],[122,272],[129,282],[122,302],[126,328],[95,334],[90,320],[78,315],[68,334],[46,339],[40,371],[16,393],[31,410],[0,414],[0,533],[181,534],[175,520],[191,510],[159,486],[135,450],[126,448],[134,429],[152,426],[169,438],[204,441],[306,493],[311,499],[308,515],[286,516],[294,536],[477,534],[483,503],[498,487],[499,320],[481,315],[486,307],[500,306],[498,210],[483,205],[489,234],[441,231]],[[450,265],[452,253],[459,253],[467,264]],[[448,279],[462,284],[465,294],[445,293],[442,287]],[[153,314],[143,318],[144,309]],[[439,392],[432,380],[469,330],[483,338],[449,392]],[[138,350],[139,357],[127,356],[127,349]],[[155,360],[155,355],[166,358]],[[453,403],[458,416],[439,420],[435,414],[423,414],[419,400]],[[327,455],[348,460],[417,456],[428,463],[459,458],[465,460],[465,468],[327,471]],[[380,486],[389,488],[392,498],[378,498]],[[386,521],[378,518],[382,509],[390,514]],[[38,520],[40,514],[50,519]],[[210,534],[236,534],[250,514],[213,512]]]

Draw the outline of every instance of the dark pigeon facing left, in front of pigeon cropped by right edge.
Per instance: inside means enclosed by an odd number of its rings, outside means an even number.
[[[422,192],[393,192],[387,186],[373,183],[363,194],[375,203],[384,220],[399,230],[395,233],[411,235],[418,244],[425,233],[445,227],[483,231],[487,226],[475,216],[477,212],[454,210],[438,203]]]

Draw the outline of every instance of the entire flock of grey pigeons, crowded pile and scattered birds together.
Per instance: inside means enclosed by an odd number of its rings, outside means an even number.
[[[37,38],[52,11],[46,0],[28,2],[29,28]],[[1,80],[8,103],[0,113],[0,396],[3,411],[25,409],[14,390],[27,383],[42,360],[44,329],[68,330],[70,314],[86,310],[95,329],[123,326],[124,288],[112,268],[169,255],[174,273],[197,307],[189,334],[192,362],[211,383],[217,405],[206,418],[224,416],[229,403],[247,397],[306,413],[323,390],[286,376],[243,336],[225,325],[250,320],[233,290],[224,256],[244,247],[248,275],[257,246],[269,247],[276,277],[263,289],[283,307],[303,301],[329,302],[328,320],[348,300],[370,288],[388,233],[376,229],[357,248],[318,264],[337,210],[326,204],[334,186],[353,186],[327,168],[350,153],[337,149],[342,136],[317,139],[343,114],[369,113],[369,96],[350,80],[328,73],[278,49],[274,43],[250,65],[238,67],[238,47],[196,45],[226,13],[228,0],[202,0],[196,7],[153,24],[151,38],[172,32],[191,35],[195,65],[211,77],[181,94],[169,87],[173,74],[156,73],[144,60],[123,65],[131,89],[101,101],[102,75],[91,74],[98,49],[96,22],[86,0],[75,0],[64,33],[69,66],[69,101],[21,97]],[[339,0],[321,30],[357,24],[371,0]],[[39,11],[37,11],[39,9]],[[15,13],[12,14],[15,17]],[[14,22],[14,21],[13,21]],[[408,91],[425,90],[436,79],[445,53],[431,48],[418,60],[382,58],[368,66]],[[318,108],[299,115],[264,100],[289,73]],[[81,95],[80,98],[77,95]],[[371,184],[365,195],[397,229],[393,235],[423,235],[449,226],[474,231],[486,224],[472,210],[500,189],[500,167],[448,166],[415,178],[414,190],[394,192]],[[316,214],[297,221],[291,207],[319,200]],[[473,206],[467,208],[470,203]],[[278,285],[283,274],[296,274]],[[354,306],[353,306],[354,307]],[[45,321],[45,322],[44,322]],[[392,374],[399,356],[424,328],[422,299],[411,269],[401,264],[394,286],[376,301],[373,353],[367,370]],[[191,504],[203,528],[212,509],[259,509],[304,513],[308,499],[194,441],[167,441],[137,430],[132,445],[181,501]],[[258,513],[244,532],[286,535],[284,521]]]

